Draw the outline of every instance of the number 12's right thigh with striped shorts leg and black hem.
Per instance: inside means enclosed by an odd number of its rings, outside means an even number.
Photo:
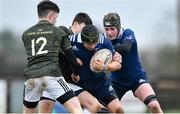
[[[59,103],[63,104],[69,112],[82,112],[78,98],[64,78],[57,77],[53,80],[48,82],[49,87],[47,92],[49,95],[55,98]]]

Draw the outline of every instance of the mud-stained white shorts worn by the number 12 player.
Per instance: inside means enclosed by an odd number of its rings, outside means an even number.
[[[64,77],[44,76],[33,78],[25,81],[24,85],[24,100],[29,102],[39,101],[43,92],[47,92],[51,99],[56,100],[72,90],[64,80]]]

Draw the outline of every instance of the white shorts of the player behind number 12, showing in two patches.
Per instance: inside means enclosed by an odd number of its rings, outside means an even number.
[[[79,87],[79,86],[77,86],[75,84],[68,83],[68,85],[71,87],[71,89],[73,91],[78,91],[78,90],[82,89],[81,87]],[[48,99],[54,100],[53,97],[47,91],[43,91],[42,97],[43,97],[43,99],[47,99],[48,98]]]

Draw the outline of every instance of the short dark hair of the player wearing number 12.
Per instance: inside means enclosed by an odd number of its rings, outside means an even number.
[[[59,13],[60,11],[59,7],[50,0],[43,0],[37,6],[37,12],[39,17],[47,16],[50,10],[57,13]]]

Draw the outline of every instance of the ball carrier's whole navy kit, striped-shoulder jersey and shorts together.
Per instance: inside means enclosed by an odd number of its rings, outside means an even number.
[[[90,70],[90,60],[92,56],[100,49],[109,49],[112,54],[115,50],[111,42],[100,35],[98,43],[94,50],[87,50],[81,40],[81,33],[70,37],[71,45],[77,58],[81,59],[83,66],[80,72],[80,81],[76,84],[86,91],[90,92],[97,99],[108,105],[111,101],[116,99],[113,93],[109,90],[110,80],[106,77],[105,72],[94,73]]]

